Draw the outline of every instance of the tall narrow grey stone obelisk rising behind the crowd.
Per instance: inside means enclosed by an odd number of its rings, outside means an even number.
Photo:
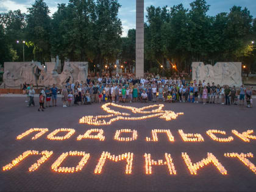
[[[144,0],[136,0],[136,77],[144,76]]]

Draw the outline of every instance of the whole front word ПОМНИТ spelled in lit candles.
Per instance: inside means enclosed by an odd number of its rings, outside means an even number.
[[[34,163],[30,166],[29,171],[35,171],[39,168],[40,165],[42,165],[46,160],[51,157],[53,154],[52,151],[34,151],[34,150],[29,150],[23,152],[23,154],[19,155],[17,158],[12,160],[12,163],[9,163],[5,166],[2,167],[3,171],[8,171],[12,169],[14,166],[17,166],[22,160],[24,160],[26,157],[29,155],[43,155],[39,160],[37,160],[37,163]],[[61,163],[65,160],[65,158],[70,156],[82,156],[82,159],[80,160],[79,164],[75,167],[60,167]],[[238,154],[236,152],[232,153],[225,153],[225,157],[232,157],[235,158],[237,157],[241,162],[244,163],[244,165],[248,166],[249,169],[251,169],[252,172],[256,174],[256,166],[254,163],[252,163],[250,160],[248,160],[248,157],[254,157],[254,154],[251,152],[247,154]],[[77,172],[81,171],[82,168],[85,166],[85,164],[88,161],[88,158],[90,157],[90,154],[86,154],[84,151],[69,151],[69,152],[64,152],[63,154],[60,155],[57,160],[52,164],[51,169],[55,172]],[[185,164],[188,166],[188,169],[190,173],[193,175],[197,174],[197,170],[202,168],[205,165],[208,165],[209,163],[213,163],[216,168],[221,172],[221,174],[226,175],[227,171],[224,168],[224,166],[219,163],[218,159],[213,155],[212,153],[207,153],[207,158],[203,158],[200,162],[192,163],[190,157],[186,152],[182,152],[182,157],[185,161]],[[176,174],[176,169],[174,168],[174,164],[172,163],[172,158],[171,154],[165,153],[165,159],[166,161],[163,162],[163,160],[152,160],[151,159],[151,154],[144,154],[145,158],[145,168],[146,168],[146,174],[152,174],[152,165],[167,165],[169,169],[170,174]],[[105,160],[109,159],[112,160],[113,162],[118,162],[121,160],[126,160],[126,174],[131,174],[132,173],[132,162],[133,162],[133,153],[132,152],[126,152],[125,154],[121,155],[111,155],[110,152],[102,152],[101,157],[99,158],[98,165],[96,165],[96,168],[94,169],[95,174],[101,174],[102,167],[104,166]]]

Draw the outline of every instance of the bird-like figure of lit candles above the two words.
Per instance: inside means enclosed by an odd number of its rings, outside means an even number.
[[[118,110],[112,110],[110,108],[112,107],[118,107],[126,110],[130,110],[131,113],[122,113]],[[149,108],[155,108],[152,110],[148,110]],[[110,125],[115,121],[119,120],[129,120],[129,121],[138,121],[148,118],[154,118],[158,117],[161,119],[165,119],[166,121],[171,121],[172,119],[176,119],[179,115],[184,115],[183,112],[175,113],[171,110],[163,110],[163,107],[165,105],[163,104],[155,104],[155,105],[148,105],[145,107],[137,108],[137,107],[131,107],[126,105],[118,105],[114,103],[107,103],[101,106],[101,108],[108,113],[108,115],[98,115],[98,116],[83,116],[79,119],[80,124],[89,124],[94,126],[105,126]],[[142,116],[131,116],[131,114],[141,114]],[[109,120],[105,118],[110,118]]]

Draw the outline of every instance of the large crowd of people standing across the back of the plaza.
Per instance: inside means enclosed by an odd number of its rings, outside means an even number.
[[[35,105],[33,85],[24,84],[27,93],[27,107]],[[63,107],[102,102],[196,102],[202,104],[244,105],[252,107],[252,88],[242,85],[238,90],[229,85],[212,85],[185,78],[136,78],[136,77],[98,77],[87,78],[86,82],[67,83],[61,90],[52,87],[41,88],[40,108],[57,106],[57,94],[61,94]],[[44,106],[44,100],[46,105]],[[52,105],[51,105],[52,100]],[[240,101],[238,103],[238,100]]]

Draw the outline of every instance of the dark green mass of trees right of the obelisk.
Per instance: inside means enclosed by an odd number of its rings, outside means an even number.
[[[170,10],[152,5],[147,8],[147,60],[158,60],[162,65],[168,60],[179,71],[190,71],[191,62],[245,62],[253,55],[256,21],[247,8],[233,6],[229,13],[208,16],[210,5],[205,0],[195,0],[190,7],[184,9],[179,4]]]

